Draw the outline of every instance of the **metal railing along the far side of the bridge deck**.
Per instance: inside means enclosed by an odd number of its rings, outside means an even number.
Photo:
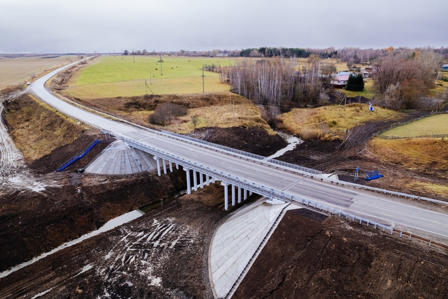
[[[308,172],[308,173],[312,173],[312,174],[317,174],[317,175],[322,174],[322,171],[319,171],[319,170],[316,170],[316,169],[303,167],[303,166],[300,166],[300,165],[296,165],[296,164],[292,164],[292,163],[288,163],[288,162],[284,162],[284,161],[279,161],[279,160],[276,160],[276,159],[268,159],[267,157],[259,155],[259,154],[250,153],[250,152],[239,150],[239,149],[232,149],[232,148],[221,146],[221,145],[218,145],[218,144],[214,144],[214,143],[211,143],[211,142],[208,142],[208,141],[196,139],[196,138],[193,138],[193,137],[189,137],[189,136],[185,136],[185,135],[181,135],[181,134],[177,134],[177,133],[173,133],[173,132],[169,132],[169,131],[165,131],[165,130],[161,130],[161,132],[164,133],[164,134],[167,134],[167,135],[178,137],[178,138],[183,139],[183,140],[188,140],[188,141],[191,141],[191,142],[203,144],[203,145],[206,145],[206,146],[209,146],[209,147],[213,147],[213,148],[221,149],[221,150],[224,150],[224,151],[228,151],[228,152],[236,153],[236,154],[239,154],[239,155],[243,155],[243,156],[246,156],[246,157],[250,157],[252,159],[256,159],[256,160],[260,160],[260,161],[264,161],[264,162],[269,162],[269,163],[272,163],[272,164],[280,165],[280,166],[283,166],[283,167],[286,167],[286,168],[291,168],[291,169],[295,169],[295,170],[299,170],[299,171],[303,171],[303,172]]]

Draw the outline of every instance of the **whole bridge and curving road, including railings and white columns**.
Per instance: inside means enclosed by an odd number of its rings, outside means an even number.
[[[220,181],[224,185],[225,209],[254,192],[266,196],[271,203],[299,201],[332,213],[343,213],[346,217],[349,215],[353,220],[360,219],[360,222],[377,223],[383,230],[390,229],[391,233],[393,229],[398,229],[415,235],[430,235],[446,243],[447,209],[420,200],[429,199],[375,188],[366,190],[365,186],[324,177],[314,169],[114,121],[64,102],[48,92],[44,83],[75,63],[36,80],[31,85],[32,92],[65,115],[154,155],[159,175],[162,175],[162,169],[167,173],[167,168],[172,171],[174,165],[176,168],[182,166],[186,171],[189,193],[204,184]],[[401,197],[385,193],[395,193]]]

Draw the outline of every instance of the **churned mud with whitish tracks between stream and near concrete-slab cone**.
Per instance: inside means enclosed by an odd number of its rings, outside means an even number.
[[[239,207],[224,211],[223,188],[205,186],[18,270],[0,279],[0,294],[2,298],[31,298],[46,291],[45,298],[213,298],[207,268],[211,237],[224,217]]]

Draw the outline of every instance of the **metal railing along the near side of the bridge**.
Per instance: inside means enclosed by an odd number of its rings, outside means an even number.
[[[132,146],[132,147],[134,147],[136,149],[141,149],[143,151],[146,151],[146,152],[149,152],[151,154],[154,154],[154,155],[156,155],[158,157],[165,158],[165,159],[167,159],[169,161],[178,163],[178,164],[180,164],[182,166],[185,166],[185,167],[188,167],[188,168],[200,171],[202,173],[211,175],[211,176],[215,177],[218,180],[225,181],[227,183],[231,183],[231,184],[234,184],[234,185],[239,186],[239,187],[243,187],[243,188],[251,190],[251,191],[253,191],[253,192],[257,193],[257,194],[260,194],[260,195],[263,195],[263,196],[266,196],[266,197],[269,197],[269,198],[276,198],[276,199],[279,199],[281,201],[286,201],[287,199],[291,200],[291,201],[298,201],[298,202],[301,202],[302,204],[306,204],[307,206],[313,206],[314,208],[319,208],[321,210],[325,209],[325,211],[327,211],[327,212],[329,210],[331,210],[332,214],[337,213],[339,216],[344,216],[346,219],[351,218],[353,221],[359,220],[359,223],[365,222],[367,225],[372,224],[372,225],[375,225],[375,228],[377,226],[379,226],[379,227],[383,228],[383,231],[385,231],[387,229],[387,230],[390,230],[391,233],[393,233],[393,228],[392,227],[389,227],[389,226],[386,226],[386,225],[382,225],[380,223],[376,223],[376,222],[373,222],[373,221],[370,221],[370,220],[367,220],[367,219],[364,219],[364,218],[361,218],[361,217],[358,217],[358,216],[346,213],[344,211],[340,211],[340,210],[337,210],[335,208],[322,205],[322,204],[317,203],[317,202],[310,201],[310,200],[305,199],[303,197],[300,197],[298,195],[293,195],[291,193],[278,190],[276,188],[271,188],[271,187],[268,187],[268,186],[264,186],[264,185],[255,183],[255,182],[250,181],[250,180],[242,179],[242,178],[239,178],[239,177],[237,177],[235,175],[232,175],[232,174],[229,174],[229,173],[225,173],[225,172],[219,171],[217,169],[212,169],[212,168],[204,166],[202,164],[198,164],[197,162],[192,162],[192,161],[187,160],[185,158],[181,158],[181,157],[176,156],[174,154],[170,154],[168,152],[165,152],[163,150],[154,149],[154,148],[152,148],[150,146],[143,145],[143,144],[141,144],[139,142],[132,141],[130,139],[121,137],[119,135],[115,135],[113,133],[111,134],[111,136],[126,142],[128,145],[130,145],[130,146]]]

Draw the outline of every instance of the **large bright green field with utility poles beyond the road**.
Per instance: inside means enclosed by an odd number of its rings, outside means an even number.
[[[151,94],[202,93],[202,66],[231,63],[228,58],[194,58],[162,56],[106,56],[84,68],[69,82],[66,92],[74,97],[105,98]],[[163,75],[162,75],[163,72]],[[228,91],[214,72],[204,71],[205,92]],[[145,86],[148,85],[148,88]]]

